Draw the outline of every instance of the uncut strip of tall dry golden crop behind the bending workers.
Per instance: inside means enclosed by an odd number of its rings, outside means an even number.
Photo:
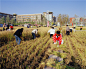
[[[0,32],[0,45],[2,46],[3,44],[9,42],[9,41],[14,41],[15,40],[15,36],[13,36],[13,34],[15,33],[15,31],[17,29],[20,29],[22,27],[14,27],[14,30],[11,31],[2,31]],[[37,29],[37,28],[25,28],[23,27],[24,30],[22,32],[22,36],[21,39],[22,40],[31,40],[32,39],[32,30]],[[38,33],[36,34],[37,37],[44,37],[47,35],[47,31],[50,28],[46,28],[46,27],[40,27],[38,28]]]

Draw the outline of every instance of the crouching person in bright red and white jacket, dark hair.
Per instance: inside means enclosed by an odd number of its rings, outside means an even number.
[[[58,41],[59,45],[63,44],[62,35],[60,34],[60,31],[57,31],[53,35],[53,42],[54,42],[54,44],[57,44],[57,41]],[[57,45],[57,47],[59,47],[59,45]]]

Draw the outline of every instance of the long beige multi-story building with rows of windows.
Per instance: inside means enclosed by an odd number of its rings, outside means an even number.
[[[17,15],[16,17],[18,22],[29,22],[29,21],[41,21],[42,14],[23,14]]]

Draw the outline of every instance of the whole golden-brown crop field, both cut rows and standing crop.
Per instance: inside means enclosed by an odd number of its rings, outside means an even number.
[[[64,44],[57,47],[47,33],[50,28],[46,27],[38,28],[34,40],[31,31],[35,28],[24,28],[21,44],[17,45],[13,33],[18,28],[0,32],[0,69],[44,69],[45,66],[55,69],[86,69],[86,31],[72,32],[67,36],[65,26],[62,27]],[[59,28],[56,27],[56,30]],[[58,50],[63,52],[58,53]],[[63,61],[48,59],[51,54],[63,58]]]

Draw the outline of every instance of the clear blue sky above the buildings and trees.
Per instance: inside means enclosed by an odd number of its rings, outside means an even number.
[[[53,12],[54,16],[86,15],[86,0],[0,0],[0,12],[17,15]]]

